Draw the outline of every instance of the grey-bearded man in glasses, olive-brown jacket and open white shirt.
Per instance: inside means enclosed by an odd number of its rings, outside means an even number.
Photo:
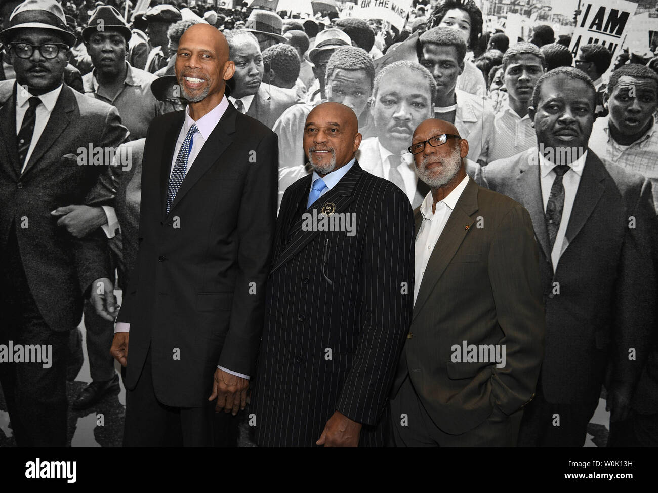
[[[467,175],[468,142],[453,124],[425,120],[409,152],[430,192],[415,211],[414,314],[391,392],[393,442],[516,446],[544,346],[530,215]]]

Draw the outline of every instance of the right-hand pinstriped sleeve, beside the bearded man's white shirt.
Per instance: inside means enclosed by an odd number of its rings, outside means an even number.
[[[376,425],[386,405],[413,313],[414,221],[409,199],[396,188],[375,207],[361,263],[361,334],[336,403],[336,411],[365,425]]]

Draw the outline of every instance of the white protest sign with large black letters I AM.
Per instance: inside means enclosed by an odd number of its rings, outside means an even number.
[[[569,47],[574,58],[580,45],[595,43],[607,47],[614,59],[618,54],[615,52],[631,29],[630,20],[637,7],[638,4],[626,0],[585,0]]]

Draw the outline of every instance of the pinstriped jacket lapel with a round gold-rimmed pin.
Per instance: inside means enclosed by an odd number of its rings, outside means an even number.
[[[345,176],[340,179],[338,184],[332,188],[329,192],[326,194],[322,195],[320,199],[316,202],[316,205],[314,208],[316,209],[321,209],[322,205],[328,202],[334,203],[336,208],[334,209],[334,214],[341,213],[344,211],[347,206],[355,199],[355,197],[352,195],[354,191],[354,187],[356,186],[357,182],[359,181],[359,178],[361,178],[361,174],[363,173],[363,170],[359,166],[359,163],[355,161],[354,165],[351,167],[351,169],[345,173]],[[308,185],[309,187],[311,186],[311,178],[308,180]],[[304,183],[307,183],[307,180],[304,181]],[[308,188],[305,189],[308,191]],[[301,196],[299,197],[299,200],[301,200]],[[297,205],[299,205],[299,201],[296,201],[294,203],[294,207],[296,210]],[[311,206],[313,207],[313,206]],[[307,213],[312,213],[313,209],[307,209]],[[313,230],[310,231],[305,231],[302,229],[302,224],[304,222],[303,217],[300,217],[295,221],[295,224],[290,228],[290,234],[295,234],[295,238],[284,248],[282,251],[280,257],[276,259],[274,263],[274,267],[272,268],[272,272],[276,271],[279,267],[284,265],[286,262],[288,262],[290,259],[292,259],[297,253],[305,247],[315,236],[320,233],[320,231]],[[284,232],[284,234],[288,234],[287,232]]]

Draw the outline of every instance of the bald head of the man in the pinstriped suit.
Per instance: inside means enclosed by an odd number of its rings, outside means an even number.
[[[359,120],[351,108],[341,103],[322,103],[306,118],[304,152],[320,176],[349,163],[359,145]]]

